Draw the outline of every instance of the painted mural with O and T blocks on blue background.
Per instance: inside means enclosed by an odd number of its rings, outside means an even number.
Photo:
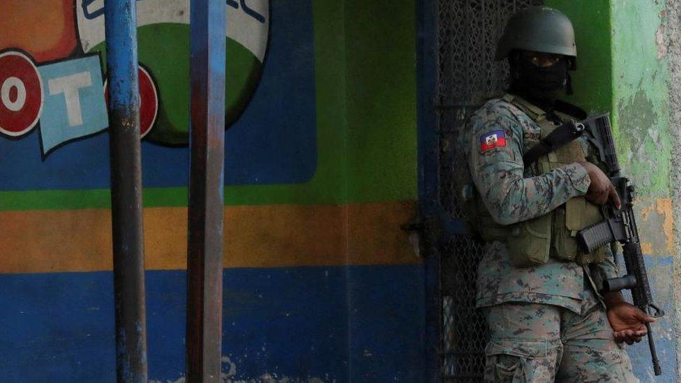
[[[313,176],[311,4],[297,1],[291,6],[303,10],[297,16],[302,21],[278,24],[276,36],[282,38],[272,44],[275,52],[269,57],[269,1],[225,3],[230,20],[227,184],[297,183]],[[108,127],[103,1],[49,0],[36,5],[10,0],[0,4],[0,14],[13,15],[0,27],[0,152],[22,153],[13,158],[12,167],[3,164],[7,156],[0,158],[0,178],[15,180],[0,184],[0,190],[107,187],[108,173],[98,166],[106,163],[107,142],[96,137]],[[24,22],[27,19],[34,22]],[[167,165],[165,171],[144,172],[144,184],[184,186],[189,0],[137,1],[137,25],[144,157]],[[276,73],[264,73],[268,57]],[[283,84],[295,87],[283,89]],[[293,135],[296,140],[287,139]],[[253,140],[258,140],[257,147],[248,144]],[[82,169],[73,172],[73,165],[82,161],[95,166],[86,174]],[[42,177],[17,177],[27,171]],[[59,177],[50,177],[57,172]],[[48,179],[52,181],[45,182]]]

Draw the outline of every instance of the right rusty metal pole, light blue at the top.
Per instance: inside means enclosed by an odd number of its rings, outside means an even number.
[[[192,0],[190,13],[187,382],[219,382],[227,11],[224,0]]]

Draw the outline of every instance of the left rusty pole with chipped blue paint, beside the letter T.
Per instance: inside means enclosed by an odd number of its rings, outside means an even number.
[[[135,0],[105,0],[118,382],[147,382]]]

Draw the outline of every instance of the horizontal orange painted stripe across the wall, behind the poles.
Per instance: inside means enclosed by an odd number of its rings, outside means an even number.
[[[415,202],[228,206],[225,267],[414,264]],[[185,269],[186,208],[144,209],[147,269]],[[0,273],[112,269],[108,209],[0,212]]]

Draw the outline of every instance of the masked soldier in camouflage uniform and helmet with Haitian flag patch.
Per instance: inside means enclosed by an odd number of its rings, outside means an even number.
[[[557,126],[586,116],[557,99],[571,93],[572,24],[551,8],[521,10],[496,59],[509,60],[511,87],[472,115],[463,145],[472,224],[488,241],[477,280],[491,332],[485,380],[637,382],[620,344],[640,341],[654,318],[620,292],[599,294],[617,276],[611,249],[581,254],[574,238],[602,219],[599,205],[619,208],[617,192],[585,139],[523,162]]]

